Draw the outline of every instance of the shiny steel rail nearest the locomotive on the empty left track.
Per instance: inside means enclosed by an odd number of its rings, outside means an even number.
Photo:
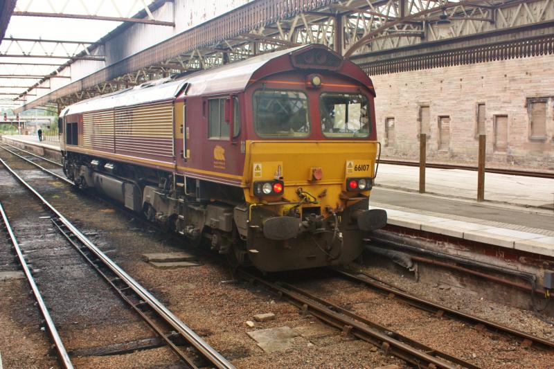
[[[170,327],[172,327],[175,332],[179,333],[179,335],[182,336],[188,342],[195,350],[202,356],[204,359],[206,359],[208,362],[212,363],[213,366],[216,368],[227,368],[231,369],[234,368],[234,366],[227,361],[219,352],[217,352],[215,349],[213,349],[208,343],[206,343],[198,334],[196,334],[193,330],[190,329],[187,325],[185,325],[183,322],[175,316],[170,310],[165,307],[162,303],[157,300],[157,298],[154,298],[152,294],[148,290],[146,290],[144,287],[142,287],[139,282],[136,282],[131,276],[129,276],[123,269],[121,269],[115,262],[113,262],[111,259],[105,255],[105,253],[102,253],[98,247],[93,244],[85,235],[83,235],[78,228],[73,226],[71,222],[69,222],[68,219],[66,219],[56,208],[54,208],[42,195],[35,190],[30,184],[28,184],[24,179],[19,177],[19,174],[17,174],[10,166],[3,161],[3,159],[0,159],[0,163],[3,165],[10,174],[12,174],[17,181],[19,181],[21,184],[23,184],[30,192],[33,192],[33,195],[39,199],[39,201],[44,204],[44,206],[55,215],[54,222],[57,228],[62,231],[62,233],[68,237],[69,240],[72,240],[72,244],[82,244],[82,246],[78,246],[78,249],[87,249],[89,252],[89,255],[93,256],[93,258],[96,259],[95,264],[102,264],[107,270],[109,270],[111,273],[114,274],[115,278],[111,278],[111,283],[123,283],[126,287],[120,287],[118,288],[119,291],[123,290],[132,290],[134,294],[139,298],[139,301],[134,304],[134,307],[136,309],[141,309],[143,305],[148,305],[150,309],[152,309],[152,312],[155,312],[159,318],[161,318],[163,321],[168,323]],[[37,165],[37,164],[36,164]],[[49,171],[48,171],[49,172]],[[53,172],[49,172],[51,174],[54,174]],[[54,174],[56,177],[57,174]],[[89,258],[87,258],[89,260]],[[109,278],[109,277],[108,277]],[[150,322],[147,320],[147,323],[150,324]],[[152,326],[152,325],[151,325]],[[162,339],[166,340],[166,342],[170,339],[169,334],[162,334]],[[172,345],[171,343],[168,343],[172,349],[175,351],[175,348],[177,346]],[[180,350],[179,350],[180,351]],[[188,358],[188,355],[185,355],[184,357],[181,356],[181,353],[176,352],[181,359],[185,359],[185,361],[193,368],[197,368],[195,363]]]

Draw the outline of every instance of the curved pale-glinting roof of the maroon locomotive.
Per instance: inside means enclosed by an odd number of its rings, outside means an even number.
[[[321,45],[316,46],[325,47]],[[185,93],[186,96],[206,96],[217,93],[244,91],[249,82],[251,82],[254,73],[271,60],[302,48],[312,47],[314,45],[296,46],[273,53],[258,55],[240,62],[191,73],[177,80],[163,78],[161,80],[145,82],[136,87],[77,102],[63,109],[60,116],[172,100]],[[365,73],[363,74],[364,77],[368,78]]]

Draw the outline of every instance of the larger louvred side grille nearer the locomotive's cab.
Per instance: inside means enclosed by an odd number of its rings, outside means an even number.
[[[173,156],[173,105],[164,102],[116,109],[116,152]]]

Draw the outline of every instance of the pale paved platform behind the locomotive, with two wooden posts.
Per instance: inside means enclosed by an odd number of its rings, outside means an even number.
[[[36,136],[2,139],[27,150],[59,150]],[[476,172],[429,168],[429,193],[420,194],[418,168],[382,164],[370,206],[385,209],[393,226],[554,256],[553,180],[487,173],[483,202],[473,199],[475,183]]]

